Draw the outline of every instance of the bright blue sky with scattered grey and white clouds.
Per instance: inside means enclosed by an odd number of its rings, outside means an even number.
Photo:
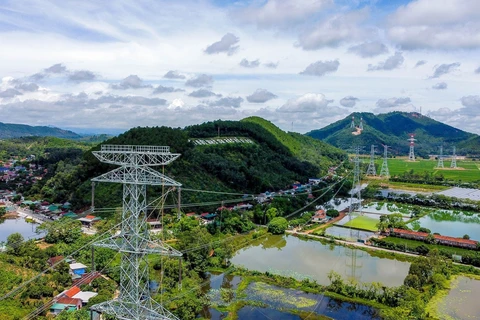
[[[2,0],[4,123],[78,133],[416,111],[480,134],[478,0]]]

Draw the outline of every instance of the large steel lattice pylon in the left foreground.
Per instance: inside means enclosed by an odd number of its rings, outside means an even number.
[[[122,320],[177,319],[150,297],[147,254],[181,257],[164,243],[150,240],[147,228],[147,185],[180,187],[181,184],[153,170],[150,166],[166,165],[180,154],[169,147],[102,145],[93,154],[101,162],[120,168],[92,179],[95,182],[123,184],[122,226],[120,234],[95,243],[95,246],[117,250],[121,255],[120,294],[118,298],[91,307]]]

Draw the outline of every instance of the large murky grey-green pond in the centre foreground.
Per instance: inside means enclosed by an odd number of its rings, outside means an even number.
[[[362,250],[288,235],[258,239],[239,250],[231,261],[250,270],[296,279],[309,278],[322,285],[330,284],[328,273],[334,270],[344,278],[399,286],[410,268],[408,262],[373,257]]]

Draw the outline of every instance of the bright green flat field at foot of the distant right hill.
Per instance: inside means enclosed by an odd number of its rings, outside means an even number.
[[[442,174],[447,180],[462,180],[465,182],[469,181],[480,181],[480,162],[477,161],[460,161],[457,160],[457,167],[463,168],[464,170],[449,170],[450,169],[450,160],[446,159],[443,161],[445,169],[436,169],[437,166],[436,160],[424,160],[418,159],[415,162],[406,161],[406,159],[388,159],[388,170],[390,175],[400,175],[404,172],[413,170],[417,174],[422,174],[425,171],[432,172],[434,175]],[[376,160],[377,171],[380,170],[382,166],[382,160]]]

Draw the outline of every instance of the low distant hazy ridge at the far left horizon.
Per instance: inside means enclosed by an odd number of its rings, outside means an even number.
[[[63,130],[54,127],[29,126],[25,124],[13,124],[0,122],[0,139],[18,138],[18,137],[57,137],[68,139],[79,139],[80,135],[75,132]]]

